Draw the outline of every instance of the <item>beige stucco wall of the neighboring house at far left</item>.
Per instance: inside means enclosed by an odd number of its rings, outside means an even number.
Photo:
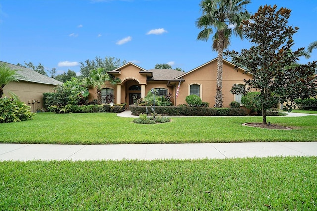
[[[43,108],[43,93],[54,92],[54,85],[39,84],[33,82],[10,82],[3,88],[3,97],[10,97],[9,92],[16,94],[22,102],[31,106],[33,112],[36,112],[37,108]],[[32,103],[35,100],[35,103]],[[30,102],[30,103],[29,103]]]

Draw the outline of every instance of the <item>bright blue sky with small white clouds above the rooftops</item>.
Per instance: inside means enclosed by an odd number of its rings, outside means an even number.
[[[1,0],[0,60],[12,64],[41,63],[57,74],[80,71],[79,62],[96,56],[132,61],[144,69],[168,63],[190,71],[217,53],[197,41],[195,21],[200,0]],[[294,48],[317,41],[317,0],[251,0],[247,10],[261,5],[292,10],[289,25],[300,29]],[[231,38],[229,50],[249,48]],[[317,50],[310,59],[317,60]]]

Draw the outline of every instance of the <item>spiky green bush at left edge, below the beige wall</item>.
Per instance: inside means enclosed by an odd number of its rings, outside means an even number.
[[[20,122],[33,119],[31,107],[13,97],[0,99],[0,123]]]

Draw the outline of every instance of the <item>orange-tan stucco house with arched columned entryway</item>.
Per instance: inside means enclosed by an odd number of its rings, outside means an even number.
[[[241,103],[241,95],[230,93],[233,84],[244,85],[243,79],[251,79],[248,74],[243,74],[241,68],[235,69],[235,65],[223,60],[222,93],[223,105],[229,107],[230,102]],[[160,95],[171,94],[174,105],[186,103],[188,95],[196,94],[203,102],[210,103],[210,107],[215,104],[217,81],[217,59],[213,59],[187,73],[171,69],[151,69],[145,70],[132,62],[129,62],[116,70],[109,71],[108,74],[121,79],[121,83],[111,85],[105,82],[102,89],[102,98],[109,99],[113,96],[113,103],[135,104],[139,98],[144,98],[148,91],[155,88]],[[176,98],[176,91],[181,81],[179,95]],[[90,89],[89,100],[97,98],[95,89]]]

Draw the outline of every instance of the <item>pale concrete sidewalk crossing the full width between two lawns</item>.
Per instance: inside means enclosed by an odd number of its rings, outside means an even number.
[[[51,145],[0,144],[0,161],[156,160],[317,156],[317,142]]]

